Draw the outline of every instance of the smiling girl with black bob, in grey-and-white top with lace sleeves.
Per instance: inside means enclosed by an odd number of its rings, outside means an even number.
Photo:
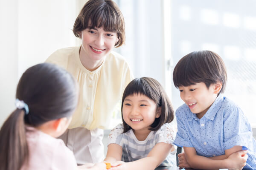
[[[176,128],[172,104],[157,80],[142,77],[132,80],[122,96],[122,124],[108,137],[112,170],[148,169],[176,166],[173,146]]]

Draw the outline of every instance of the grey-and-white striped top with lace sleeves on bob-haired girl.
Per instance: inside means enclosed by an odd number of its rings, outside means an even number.
[[[122,147],[122,161],[131,162],[147,157],[152,148],[160,142],[173,145],[176,128],[171,124],[164,124],[159,130],[151,131],[144,141],[139,141],[133,130],[124,130],[123,125],[117,125],[108,136],[108,144],[119,144]],[[169,153],[160,166],[176,167],[176,150]]]

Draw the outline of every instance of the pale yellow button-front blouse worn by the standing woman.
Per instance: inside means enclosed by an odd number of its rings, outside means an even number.
[[[79,59],[79,48],[59,49],[46,60],[65,68],[79,84],[79,104],[69,128],[108,129],[114,108],[133,74],[125,59],[114,51],[99,68],[88,71]]]

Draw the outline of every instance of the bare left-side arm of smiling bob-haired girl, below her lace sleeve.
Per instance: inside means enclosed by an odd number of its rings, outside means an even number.
[[[104,159],[106,162],[110,162],[111,164],[120,161],[122,158],[122,147],[119,144],[109,144],[107,156]]]

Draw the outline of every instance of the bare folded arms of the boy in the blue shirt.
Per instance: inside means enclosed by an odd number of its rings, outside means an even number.
[[[197,155],[194,147],[184,147],[185,157],[188,164],[194,169],[220,169],[228,168],[233,170],[242,169],[245,166],[248,156],[247,150],[242,150],[230,154],[227,159],[213,160],[204,156]]]

